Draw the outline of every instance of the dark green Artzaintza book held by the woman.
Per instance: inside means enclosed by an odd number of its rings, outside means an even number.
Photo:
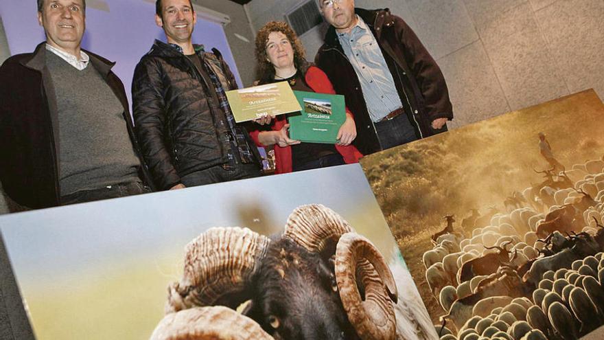
[[[290,115],[290,138],[310,143],[336,144],[346,120],[343,95],[294,91],[302,111]]]

